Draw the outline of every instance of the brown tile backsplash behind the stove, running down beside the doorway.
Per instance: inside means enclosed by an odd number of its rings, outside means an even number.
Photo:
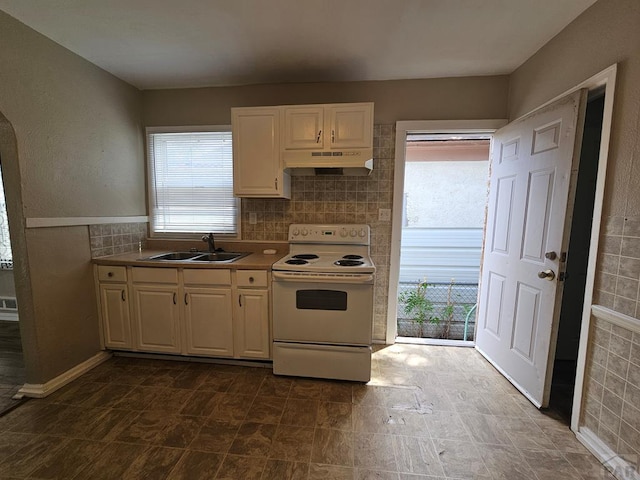
[[[366,223],[371,226],[371,257],[376,264],[373,338],[384,340],[391,222],[378,221],[378,210],[391,209],[395,125],[375,125],[373,172],[367,177],[299,176],[291,178],[291,199],[242,200],[244,240],[286,241],[291,223]],[[255,213],[257,223],[249,223]]]

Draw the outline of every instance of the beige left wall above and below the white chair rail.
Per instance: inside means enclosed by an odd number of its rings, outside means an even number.
[[[27,230],[25,218],[145,214],[140,93],[2,12],[0,44],[26,374],[44,383],[99,350],[89,227]]]

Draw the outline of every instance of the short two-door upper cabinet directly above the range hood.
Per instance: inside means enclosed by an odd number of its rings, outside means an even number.
[[[373,103],[282,108],[284,150],[340,150],[373,145]]]

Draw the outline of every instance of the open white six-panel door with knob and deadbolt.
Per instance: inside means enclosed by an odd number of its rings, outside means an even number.
[[[537,407],[549,399],[585,105],[577,91],[498,130],[492,145],[476,348]]]

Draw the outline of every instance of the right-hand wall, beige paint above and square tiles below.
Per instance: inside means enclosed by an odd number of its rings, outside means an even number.
[[[640,2],[600,0],[511,76],[509,113],[523,115],[618,63],[594,303],[640,318]],[[634,339],[637,340],[637,334]],[[606,322],[591,332],[587,425],[615,452],[640,452],[640,363],[631,332]],[[637,458],[637,457],[635,457]]]

